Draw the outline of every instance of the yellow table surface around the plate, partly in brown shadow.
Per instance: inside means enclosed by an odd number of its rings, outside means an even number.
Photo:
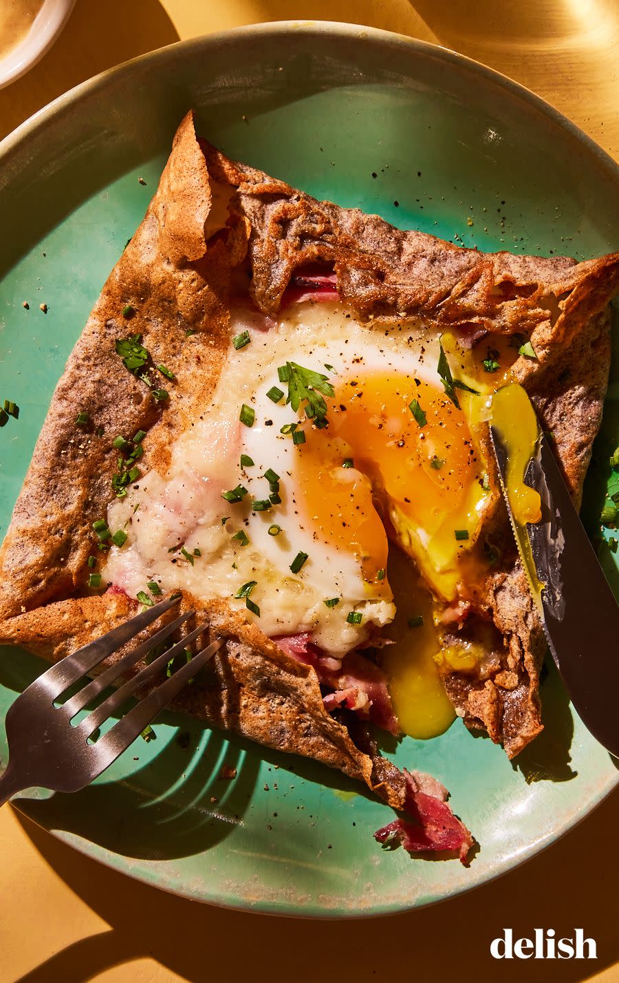
[[[619,158],[616,0],[78,0],[64,33],[0,91],[0,138],[89,76],[213,30],[352,21],[454,48],[535,90]],[[615,794],[534,860],[471,895],[410,914],[305,922],[206,907],[84,858],[0,811],[0,980],[356,983],[383,979],[619,980]],[[515,937],[583,928],[597,960],[497,962]]]

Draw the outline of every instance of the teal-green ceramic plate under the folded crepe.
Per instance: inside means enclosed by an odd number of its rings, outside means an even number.
[[[431,45],[273,24],[99,76],[0,146],[0,396],[21,407],[0,431],[3,529],[65,360],[190,106],[198,131],[231,156],[404,227],[486,250],[585,259],[619,248],[615,164],[531,92]],[[593,483],[592,507],[599,492]],[[2,651],[2,717],[40,668]],[[397,911],[520,863],[617,783],[553,672],[542,693],[546,730],[515,765],[460,722],[387,749],[451,790],[480,844],[469,869],[383,851],[372,832],[391,811],[338,774],[172,716],[83,792],[31,794],[19,808],[84,853],[199,900],[299,915]],[[235,780],[219,778],[223,764]]]

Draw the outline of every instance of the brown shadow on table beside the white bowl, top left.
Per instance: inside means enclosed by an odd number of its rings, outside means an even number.
[[[159,0],[79,0],[38,65],[0,90],[0,138],[85,79],[178,39]]]

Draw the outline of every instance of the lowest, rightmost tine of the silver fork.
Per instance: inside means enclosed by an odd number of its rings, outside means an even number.
[[[207,625],[204,624],[198,630],[205,631],[206,628]],[[216,641],[211,642],[210,645],[207,645],[205,649],[202,649],[194,656],[191,662],[177,669],[174,675],[166,679],[165,682],[162,682],[160,686],[157,686],[156,689],[140,701],[138,706],[130,710],[121,721],[115,723],[106,734],[99,737],[92,748],[99,767],[103,761],[105,761],[105,764],[102,767],[107,768],[108,765],[111,765],[136,737],[141,734],[144,727],[154,720],[159,711],[163,710],[181,692],[183,687],[187,685],[202,666],[206,665],[209,659],[219,651],[223,643],[224,640],[218,638]]]

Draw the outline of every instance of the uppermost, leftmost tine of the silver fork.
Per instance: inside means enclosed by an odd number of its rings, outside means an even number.
[[[67,656],[66,659],[61,659],[59,663],[52,665],[32,685],[38,686],[42,682],[45,688],[51,693],[52,700],[55,700],[65,689],[74,682],[77,682],[83,675],[86,675],[95,665],[103,662],[108,656],[111,656],[116,649],[120,649],[125,642],[134,638],[143,628],[147,628],[152,621],[155,621],[160,614],[163,614],[170,607],[177,604],[180,599],[181,596],[178,595],[177,597],[167,598],[165,601],[161,601],[153,607],[147,607],[145,611],[136,614],[129,621],[119,624],[117,628],[112,628],[111,631],[101,635],[100,638],[95,638],[93,642],[84,645],[82,649],[78,649],[72,656]],[[28,692],[28,689],[29,686],[24,692]]]

